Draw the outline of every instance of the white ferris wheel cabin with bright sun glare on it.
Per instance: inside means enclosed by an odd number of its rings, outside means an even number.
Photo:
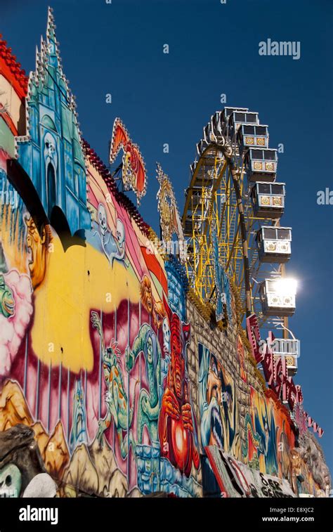
[[[296,283],[292,279],[266,279],[260,284],[265,316],[293,316],[296,309]]]

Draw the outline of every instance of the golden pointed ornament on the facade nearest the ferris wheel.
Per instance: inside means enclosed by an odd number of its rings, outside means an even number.
[[[159,211],[159,225],[162,231],[162,240],[166,248],[170,245],[172,236],[177,235],[179,259],[182,264],[185,263],[185,238],[183,227],[181,225],[181,216],[179,216],[174,189],[172,188],[169,177],[162,170],[161,165],[157,162],[157,181],[159,190],[157,192],[157,209]]]

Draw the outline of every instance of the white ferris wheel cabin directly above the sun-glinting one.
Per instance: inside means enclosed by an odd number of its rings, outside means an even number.
[[[261,262],[285,263],[292,254],[292,228],[262,226],[256,233],[256,243]]]

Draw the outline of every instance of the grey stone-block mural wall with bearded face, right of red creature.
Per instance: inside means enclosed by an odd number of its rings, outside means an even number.
[[[220,330],[207,323],[192,298],[187,300],[188,372],[200,427],[204,495],[221,492],[205,450],[213,445],[262,474],[287,480],[296,495],[328,496],[329,473],[315,436],[305,428],[298,441],[287,408],[266,388],[249,357],[233,294],[232,309],[226,330]]]

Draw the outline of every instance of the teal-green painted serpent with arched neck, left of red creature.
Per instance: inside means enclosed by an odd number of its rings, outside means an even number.
[[[146,426],[151,441],[158,440],[157,422],[159,417],[159,392],[161,391],[161,349],[150,325],[144,323],[132,349],[126,348],[126,370],[131,371],[139,353],[145,356],[145,374],[149,391],[141,389],[138,398],[138,436],[137,443],[143,441],[143,429]]]

